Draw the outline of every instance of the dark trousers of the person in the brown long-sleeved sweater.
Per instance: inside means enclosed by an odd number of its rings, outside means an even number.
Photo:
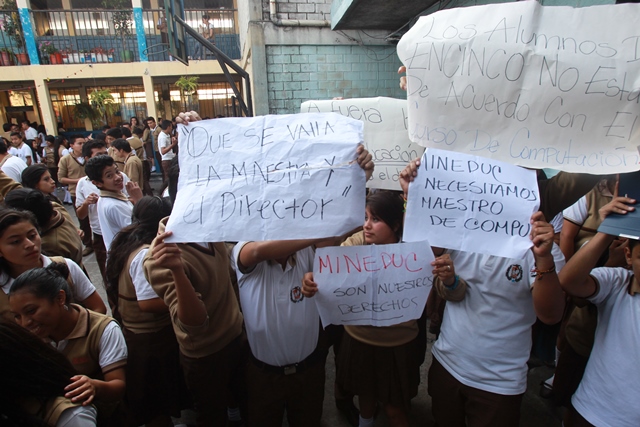
[[[237,399],[241,410],[246,407],[244,368],[247,354],[248,345],[244,334],[222,350],[199,359],[180,353],[184,379],[193,397],[198,426],[225,426],[230,395]]]

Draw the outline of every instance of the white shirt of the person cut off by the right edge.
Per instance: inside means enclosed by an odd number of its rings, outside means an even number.
[[[640,294],[630,295],[633,272],[596,268],[600,284],[589,300],[598,307],[598,327],[589,362],[571,403],[598,427],[640,426]]]

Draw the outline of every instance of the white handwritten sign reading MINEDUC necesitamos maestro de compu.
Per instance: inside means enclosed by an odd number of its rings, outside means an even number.
[[[508,258],[531,247],[540,196],[535,171],[428,148],[409,185],[403,237]]]

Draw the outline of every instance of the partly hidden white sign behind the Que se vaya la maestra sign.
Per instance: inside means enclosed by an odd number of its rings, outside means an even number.
[[[367,182],[369,188],[401,190],[400,172],[407,163],[424,153],[424,147],[409,140],[406,99],[378,97],[307,101],[302,103],[300,112],[334,112],[364,123],[364,145],[376,165]]]

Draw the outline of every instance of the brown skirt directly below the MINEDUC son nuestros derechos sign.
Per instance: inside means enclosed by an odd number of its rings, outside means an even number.
[[[379,347],[345,332],[338,358],[337,381],[355,395],[405,406],[418,394],[421,355],[417,339],[395,347]]]

